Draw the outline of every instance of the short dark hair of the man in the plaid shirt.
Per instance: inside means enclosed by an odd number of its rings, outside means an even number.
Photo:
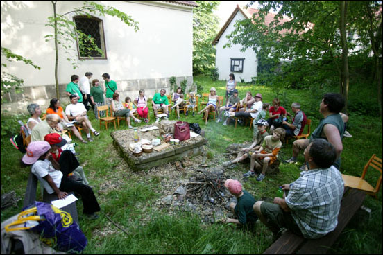
[[[334,146],[325,139],[312,139],[309,155],[320,168],[329,168],[337,159]]]

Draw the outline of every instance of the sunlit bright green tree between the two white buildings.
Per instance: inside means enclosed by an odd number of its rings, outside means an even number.
[[[218,17],[213,15],[220,1],[196,1],[193,10],[193,74],[210,73],[215,66],[212,40],[218,30]]]

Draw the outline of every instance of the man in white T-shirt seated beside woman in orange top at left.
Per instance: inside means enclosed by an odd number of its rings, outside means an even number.
[[[78,97],[76,95],[69,96],[71,104],[65,108],[65,114],[67,115],[69,121],[76,121],[78,124],[82,125],[85,133],[87,133],[87,140],[92,142],[93,139],[90,137],[90,130],[97,137],[99,132],[97,132],[93,127],[90,120],[87,118],[87,109],[85,109],[84,104],[78,103]],[[84,139],[83,143],[87,143]]]

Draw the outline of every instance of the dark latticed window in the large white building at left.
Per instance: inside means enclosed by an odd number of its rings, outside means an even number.
[[[105,38],[103,33],[103,21],[96,17],[74,17],[77,30],[87,35],[90,38],[94,38],[94,43],[101,49],[99,51],[92,51],[87,49],[87,44],[79,45],[77,41],[77,50],[79,58],[106,58],[105,50]]]

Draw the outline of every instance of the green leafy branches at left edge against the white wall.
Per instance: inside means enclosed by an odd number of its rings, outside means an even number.
[[[28,60],[24,58],[22,55],[17,55],[12,53],[10,49],[1,47],[1,55],[4,55],[8,62],[12,62],[12,60],[22,61],[25,64],[29,64],[35,69],[41,69],[37,65],[33,64],[32,60]],[[1,67],[7,67],[7,64],[1,63]],[[16,93],[21,93],[23,90],[24,80],[17,78],[6,71],[1,71],[1,103],[5,103],[3,99],[3,95],[10,92],[12,89],[15,89]]]

